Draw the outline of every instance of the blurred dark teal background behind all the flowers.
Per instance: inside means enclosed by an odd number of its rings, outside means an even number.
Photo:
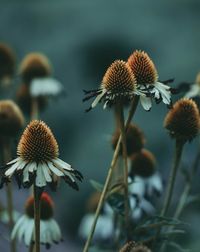
[[[85,177],[80,192],[62,184],[51,194],[64,234],[64,242],[52,251],[82,251],[77,228],[93,190],[89,180],[104,181],[112,156],[113,113],[101,106],[85,113],[89,103],[82,103],[82,90],[97,88],[112,61],[126,60],[135,49],[148,52],[161,80],[175,78],[174,86],[194,81],[200,70],[199,27],[198,0],[0,0],[0,41],[13,48],[18,63],[29,52],[46,54],[54,66],[54,76],[65,86],[66,95],[53,101],[40,117],[52,128],[61,158]],[[20,81],[1,98],[14,97],[18,84]],[[153,106],[151,112],[139,107],[134,119],[145,132],[146,146],[156,155],[165,179],[173,152],[173,142],[162,126],[166,112],[163,104]],[[184,165],[194,158],[196,146],[192,143],[186,148]],[[174,202],[182,190],[181,182],[180,175]],[[195,183],[198,190],[198,179]],[[2,200],[4,194],[2,190]],[[20,212],[27,195],[27,191],[16,188],[15,207]],[[188,246],[198,247],[198,210],[197,206],[186,216],[191,224]],[[1,224],[0,251],[5,252],[9,251],[6,232]],[[20,245],[19,251],[26,248]]]

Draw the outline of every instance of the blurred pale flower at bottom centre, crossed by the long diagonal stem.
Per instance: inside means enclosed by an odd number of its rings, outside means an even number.
[[[81,224],[79,226],[79,236],[86,240],[94,218],[95,218],[95,210],[97,208],[98,202],[100,199],[100,193],[95,192],[91,195],[87,203],[87,211],[88,213],[81,220]],[[98,218],[95,233],[94,233],[94,240],[96,242],[102,241],[109,241],[112,239],[114,234],[114,225],[113,225],[113,210],[111,207],[105,203],[101,214]]]

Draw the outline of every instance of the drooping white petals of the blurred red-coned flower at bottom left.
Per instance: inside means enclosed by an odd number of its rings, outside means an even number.
[[[23,215],[16,222],[11,239],[18,239],[20,242],[24,241],[26,246],[30,246],[35,241],[34,219]],[[40,220],[40,243],[47,247],[53,243],[58,243],[62,240],[60,227],[54,219]]]

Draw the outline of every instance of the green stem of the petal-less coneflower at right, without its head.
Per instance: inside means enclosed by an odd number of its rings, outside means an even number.
[[[177,170],[178,170],[179,163],[181,160],[183,145],[184,145],[184,143],[182,143],[180,141],[176,141],[174,163],[173,163],[172,169],[170,171],[170,175],[169,175],[167,192],[166,192],[166,196],[165,196],[165,200],[164,200],[164,205],[163,205],[163,208],[161,211],[161,216],[165,216],[167,214],[167,211],[168,211],[170,203],[171,203],[173,189],[174,189],[174,183],[176,180],[176,174],[177,174]]]

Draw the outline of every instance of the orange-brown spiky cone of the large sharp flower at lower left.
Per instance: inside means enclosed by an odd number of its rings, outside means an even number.
[[[42,121],[31,121],[19,141],[18,156],[39,163],[57,158],[58,153],[58,144],[50,128]]]

